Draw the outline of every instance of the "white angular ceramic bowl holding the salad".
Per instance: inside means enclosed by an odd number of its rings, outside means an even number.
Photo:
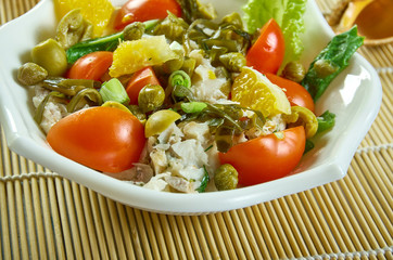
[[[219,14],[240,12],[242,0],[211,1]],[[307,3],[302,62],[312,60],[334,36],[316,3]],[[29,61],[29,51],[52,37],[55,16],[52,0],[42,0],[28,13],[0,28],[0,119],[9,147],[62,177],[123,204],[164,213],[198,214],[242,208],[322,185],[346,174],[357,146],[375,120],[382,88],[372,66],[357,53],[316,104],[316,114],[334,113],[335,127],[314,140],[315,148],[293,174],[254,186],[203,194],[151,191],[110,178],[55,152],[33,119],[28,91],[17,83],[17,68]]]

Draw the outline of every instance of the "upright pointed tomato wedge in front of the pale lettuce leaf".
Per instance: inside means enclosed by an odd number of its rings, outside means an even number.
[[[246,65],[259,73],[277,74],[284,55],[284,39],[280,26],[270,18],[245,55]]]

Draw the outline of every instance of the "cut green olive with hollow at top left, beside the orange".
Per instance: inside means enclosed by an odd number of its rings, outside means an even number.
[[[68,49],[75,43],[92,36],[92,24],[84,18],[80,9],[74,9],[63,16],[56,28],[56,40]]]

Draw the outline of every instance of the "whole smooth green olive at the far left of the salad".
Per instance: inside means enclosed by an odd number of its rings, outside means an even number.
[[[49,76],[62,76],[67,69],[67,56],[60,43],[48,39],[31,50],[33,62],[48,70]]]

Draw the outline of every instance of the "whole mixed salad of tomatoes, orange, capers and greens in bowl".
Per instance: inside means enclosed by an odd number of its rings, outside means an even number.
[[[304,67],[305,0],[250,0],[243,16],[221,18],[196,0],[94,4],[99,21],[61,5],[56,32],[17,79],[55,152],[163,192],[291,173],[333,127],[334,114],[315,115],[314,104],[363,44],[353,27]]]

